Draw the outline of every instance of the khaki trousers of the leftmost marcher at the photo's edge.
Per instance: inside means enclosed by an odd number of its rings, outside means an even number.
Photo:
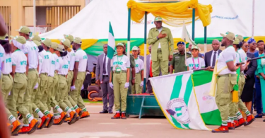
[[[2,78],[2,86],[1,86],[1,91],[2,91],[2,96],[4,98],[4,103],[6,103],[6,100],[8,98],[8,95],[13,87],[13,77],[8,74],[4,74],[3,76],[1,76]],[[6,114],[7,117],[10,117],[11,112],[8,110],[8,108],[6,108]]]

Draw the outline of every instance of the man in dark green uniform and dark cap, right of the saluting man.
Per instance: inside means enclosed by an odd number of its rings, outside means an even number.
[[[179,50],[179,52],[173,54],[173,59],[170,61],[170,74],[173,73],[173,70],[175,70],[175,73],[187,71],[185,64],[185,48],[184,42],[177,42],[177,50]],[[188,52],[186,52],[186,55],[187,58],[192,57],[192,54]]]

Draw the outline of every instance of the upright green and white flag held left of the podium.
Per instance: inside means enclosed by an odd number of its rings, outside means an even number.
[[[114,52],[115,52],[115,38],[112,30],[112,25],[110,23],[109,39],[107,40],[107,57],[112,59]]]

